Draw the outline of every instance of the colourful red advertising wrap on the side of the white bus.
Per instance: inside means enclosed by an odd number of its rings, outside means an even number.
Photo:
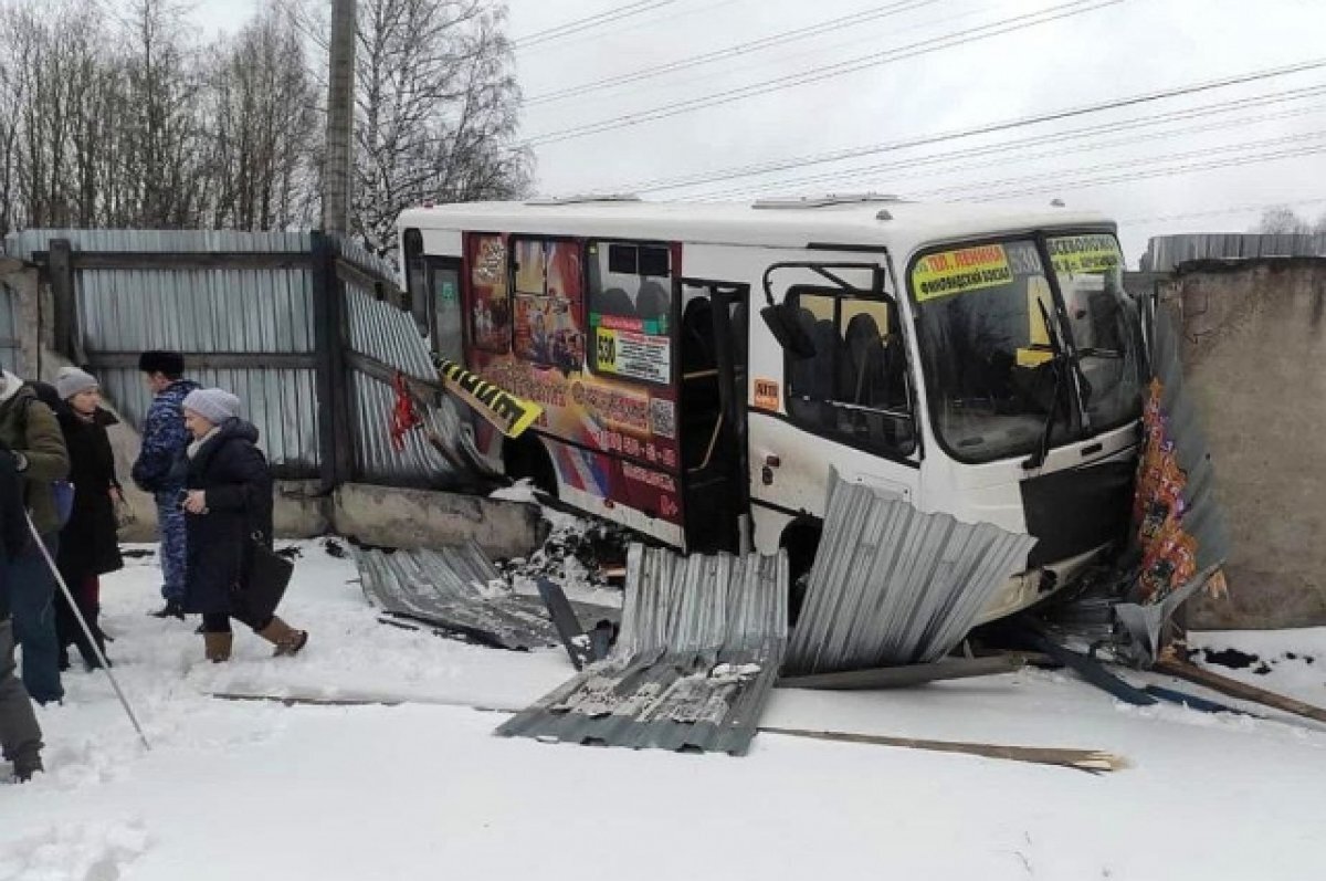
[[[585,333],[589,304],[577,241],[469,235],[467,253],[476,257],[467,293],[472,372],[542,409],[533,427],[565,440],[549,446],[566,484],[680,523],[671,337],[614,316]],[[488,272],[499,253],[507,263],[501,289],[512,292],[513,308],[505,326],[493,324],[484,334],[475,325],[484,310],[475,306],[499,288]],[[488,260],[481,277],[480,257]],[[586,368],[591,353],[597,373]]]

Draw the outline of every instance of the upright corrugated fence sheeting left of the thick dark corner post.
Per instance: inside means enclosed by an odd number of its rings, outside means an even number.
[[[11,235],[8,251],[30,260],[68,239],[94,253],[306,253],[306,232],[195,232],[131,230],[29,230]],[[84,348],[102,386],[125,417],[141,425],[150,397],[137,370],[106,368],[102,354],[174,349],[206,354],[308,354],[314,352],[313,277],[290,269],[80,269],[76,299]],[[313,366],[265,365],[187,375],[220,386],[244,402],[269,460],[306,471],[320,462],[317,377]]]

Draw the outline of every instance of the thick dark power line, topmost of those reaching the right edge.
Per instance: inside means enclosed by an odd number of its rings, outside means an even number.
[[[614,187],[614,192],[658,192],[663,190],[679,190],[683,187],[700,186],[704,183],[720,183],[725,180],[736,180],[739,178],[752,178],[758,174],[769,174],[774,171],[788,171],[815,165],[827,165],[831,162],[842,162],[845,159],[858,159],[861,157],[875,155],[880,153],[896,153],[899,150],[907,150],[912,147],[927,147],[936,143],[944,143],[947,141],[957,141],[961,138],[973,138],[985,134],[997,134],[1000,131],[1009,131],[1013,129],[1022,129],[1026,126],[1041,125],[1045,122],[1058,122],[1062,119],[1071,119],[1074,117],[1082,117],[1093,113],[1103,113],[1106,110],[1120,110],[1123,107],[1132,107],[1144,103],[1154,103],[1156,101],[1166,101],[1168,98],[1180,98],[1191,94],[1199,94],[1203,92],[1212,92],[1215,89],[1225,89],[1237,85],[1245,85],[1249,82],[1258,82],[1262,80],[1270,80],[1281,76],[1290,76],[1294,73],[1305,73],[1307,70],[1319,70],[1326,68],[1326,58],[1317,58],[1313,61],[1303,61],[1299,64],[1288,65],[1284,68],[1273,68],[1268,70],[1258,70],[1254,73],[1238,74],[1235,77],[1224,77],[1220,80],[1208,80],[1204,82],[1197,82],[1188,86],[1176,86],[1171,89],[1163,89],[1159,92],[1150,92],[1143,94],[1134,94],[1126,98],[1114,98],[1110,101],[1102,101],[1098,103],[1079,105],[1077,107],[1069,107],[1065,110],[1053,110],[1049,113],[1041,113],[1030,117],[1018,117],[1014,119],[1001,119],[998,122],[991,122],[980,126],[973,126],[969,129],[956,129],[951,131],[941,131],[932,135],[922,135],[919,138],[906,138],[902,141],[891,141],[886,143],[876,143],[863,147],[850,147],[846,150],[835,150],[831,153],[821,153],[813,155],[794,157],[790,159],[776,159],[764,163],[735,166],[729,169],[720,169],[715,171],[695,172],[690,175],[680,175],[675,178],[655,178],[652,180],[644,180],[634,186],[626,184],[621,187]]]

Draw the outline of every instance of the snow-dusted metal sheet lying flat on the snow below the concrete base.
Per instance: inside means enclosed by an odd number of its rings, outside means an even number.
[[[542,602],[512,593],[475,543],[439,551],[357,548],[354,555],[365,594],[383,612],[500,649],[561,644]],[[615,617],[615,609],[573,606],[591,625]]]

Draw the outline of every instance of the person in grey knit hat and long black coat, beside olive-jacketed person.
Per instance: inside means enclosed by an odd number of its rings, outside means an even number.
[[[46,387],[33,383],[38,397],[49,395]],[[106,653],[106,636],[101,630],[101,576],[125,567],[119,555],[115,504],[123,499],[115,479],[115,454],[106,429],[118,421],[101,406],[101,387],[95,377],[77,368],[65,368],[56,378],[52,403],[60,430],[69,450],[69,482],[74,486],[69,521],[60,531],[56,564],[69,592],[82,613],[101,655]],[[60,638],[60,665],[69,669],[68,647],[74,645],[88,669],[101,666],[97,651],[78,625],[64,592],[56,598],[56,632]]]

